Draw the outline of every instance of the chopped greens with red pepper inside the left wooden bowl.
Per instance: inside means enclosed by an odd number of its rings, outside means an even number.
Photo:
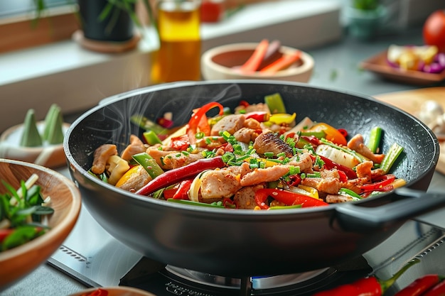
[[[21,181],[17,190],[2,180],[9,192],[0,194],[0,252],[21,246],[48,231],[43,216],[54,210],[48,205],[50,200],[43,199],[36,180],[38,176],[31,175],[26,182]]]

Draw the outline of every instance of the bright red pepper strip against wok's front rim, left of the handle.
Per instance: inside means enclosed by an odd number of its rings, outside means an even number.
[[[301,204],[301,207],[320,207],[328,204],[322,199],[316,199],[304,194],[290,192],[281,189],[264,188],[255,192],[255,202],[261,209],[269,209],[266,204],[267,197],[273,197],[278,202],[282,202],[288,206]]]

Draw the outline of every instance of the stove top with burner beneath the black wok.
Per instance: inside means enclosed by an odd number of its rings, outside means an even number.
[[[114,239],[82,206],[77,224],[48,263],[86,286],[127,285],[154,295],[309,296],[367,275],[390,278],[414,257],[409,268],[385,295],[427,273],[445,274],[443,210],[409,220],[389,239],[353,261],[291,275],[225,278],[164,265],[141,256]]]

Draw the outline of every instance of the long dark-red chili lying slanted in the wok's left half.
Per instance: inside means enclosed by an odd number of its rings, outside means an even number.
[[[196,160],[181,168],[167,170],[148,182],[144,187],[141,187],[141,189],[136,191],[136,194],[148,195],[163,187],[176,184],[190,177],[195,177],[195,175],[198,175],[203,170],[214,170],[215,168],[223,168],[224,166],[225,163],[220,156]]]

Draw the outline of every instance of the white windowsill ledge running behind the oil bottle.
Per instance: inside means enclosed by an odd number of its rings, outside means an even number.
[[[225,21],[203,24],[202,50],[262,38],[298,48],[323,45],[341,38],[340,11],[336,0],[253,4]],[[149,85],[149,53],[157,44],[150,28],[146,33],[138,47],[127,53],[96,53],[65,40],[0,55],[0,93],[2,101],[11,103],[1,108],[0,132],[20,123],[28,108],[36,109],[36,116],[42,118],[55,102],[69,113]]]

